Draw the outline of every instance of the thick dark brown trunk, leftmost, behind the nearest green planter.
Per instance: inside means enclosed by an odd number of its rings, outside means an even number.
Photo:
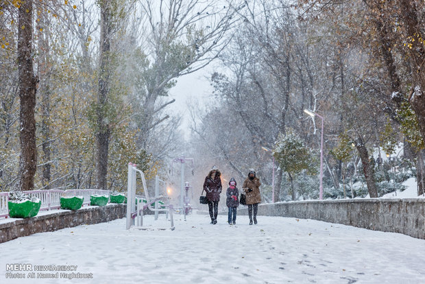
[[[37,78],[32,64],[32,1],[22,1],[18,10],[18,72],[21,161],[19,188],[34,189],[37,168],[36,107]]]

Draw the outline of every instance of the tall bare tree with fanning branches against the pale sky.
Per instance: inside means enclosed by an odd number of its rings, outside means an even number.
[[[167,115],[156,114],[173,100],[158,104],[166,97],[175,78],[202,69],[226,47],[226,34],[236,20],[234,10],[199,0],[140,1],[145,16],[145,35],[141,50],[147,60],[142,69],[143,84],[136,97],[141,101],[141,142],[147,146],[150,132]]]

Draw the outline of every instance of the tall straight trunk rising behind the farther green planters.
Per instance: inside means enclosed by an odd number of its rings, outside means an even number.
[[[110,125],[106,119],[106,108],[109,95],[110,80],[110,36],[111,14],[108,1],[100,1],[100,56],[99,56],[99,91],[97,96],[97,188],[106,189],[108,174],[108,151]]]

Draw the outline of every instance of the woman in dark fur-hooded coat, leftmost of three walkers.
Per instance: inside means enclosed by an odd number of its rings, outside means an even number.
[[[221,193],[221,173],[216,166],[211,168],[210,173],[204,181],[204,191],[208,200],[208,210],[210,211],[211,223],[217,224],[217,214]]]

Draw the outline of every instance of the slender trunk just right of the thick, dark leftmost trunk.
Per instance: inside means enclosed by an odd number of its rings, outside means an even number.
[[[38,74],[40,75],[40,88],[38,92],[41,95],[41,139],[42,139],[42,186],[44,189],[50,188],[51,180],[51,142],[50,142],[50,73],[49,62],[49,23],[47,23],[46,12],[41,8],[38,22]]]

